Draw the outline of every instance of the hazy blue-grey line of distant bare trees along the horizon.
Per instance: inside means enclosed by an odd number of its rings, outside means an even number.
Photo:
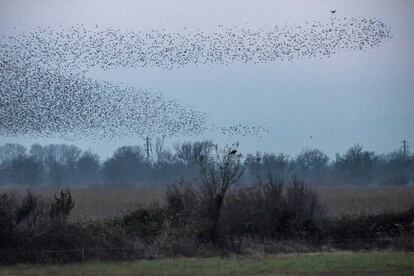
[[[90,150],[67,144],[0,146],[0,185],[28,186],[143,186],[191,180],[198,160],[208,160],[212,141],[184,142],[173,148],[158,139],[150,154],[141,146],[122,146],[100,160]],[[229,150],[237,146],[229,147]],[[376,154],[354,145],[330,159],[318,149],[296,156],[249,153],[242,158],[240,185],[301,180],[306,185],[412,185],[414,155],[403,151]]]

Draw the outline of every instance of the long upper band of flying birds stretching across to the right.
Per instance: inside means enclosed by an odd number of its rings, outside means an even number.
[[[6,55],[59,70],[92,67],[162,67],[186,64],[265,63],[365,50],[391,37],[378,19],[332,18],[327,23],[243,29],[219,25],[215,32],[121,31],[106,28],[39,28],[4,37]]]

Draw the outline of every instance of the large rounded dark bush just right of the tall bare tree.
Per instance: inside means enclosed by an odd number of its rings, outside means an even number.
[[[321,208],[315,193],[303,183],[269,182],[241,188],[226,201],[228,235],[277,239],[318,235]]]

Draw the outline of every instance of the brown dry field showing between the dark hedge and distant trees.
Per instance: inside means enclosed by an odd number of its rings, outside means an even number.
[[[28,188],[0,187],[0,193],[14,192],[17,196]],[[75,208],[72,221],[114,218],[138,206],[164,202],[164,188],[71,188]],[[414,207],[414,187],[318,187],[320,202],[330,217],[342,215],[378,214],[404,211]],[[50,200],[56,190],[32,189],[34,194]]]

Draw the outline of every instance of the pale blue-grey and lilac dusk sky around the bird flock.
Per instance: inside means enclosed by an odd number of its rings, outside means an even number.
[[[243,152],[296,154],[319,148],[331,157],[355,143],[377,152],[414,147],[414,1],[40,1],[0,0],[0,34],[37,26],[118,27],[125,30],[214,29],[217,25],[264,27],[336,17],[379,18],[393,38],[379,48],[324,59],[268,64],[185,66],[165,70],[123,69],[90,75],[159,89],[214,123],[263,124],[263,138],[206,133],[196,139],[222,144],[239,141]],[[312,138],[310,138],[312,136]],[[181,138],[170,138],[170,143]],[[108,156],[122,142],[64,141],[0,137],[0,144],[66,142]]]

